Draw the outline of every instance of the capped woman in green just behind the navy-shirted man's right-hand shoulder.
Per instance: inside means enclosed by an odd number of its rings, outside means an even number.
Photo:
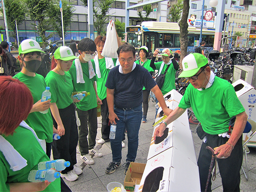
[[[146,46],[140,47],[139,55],[140,55],[140,59],[135,61],[135,63],[141,65],[142,67],[147,69],[148,72],[151,75],[153,75],[154,70],[152,69],[152,67],[150,67],[150,60],[147,59],[147,57],[148,57],[148,47],[146,47]],[[147,114],[148,114],[148,96],[149,96],[150,90],[147,90],[145,87],[143,87],[142,93],[143,93],[143,117],[142,117],[142,122],[146,123],[147,122]]]

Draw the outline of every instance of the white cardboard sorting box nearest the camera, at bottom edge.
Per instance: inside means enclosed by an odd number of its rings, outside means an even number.
[[[137,189],[137,188],[136,188]],[[198,166],[175,147],[149,159],[137,192],[199,192]]]

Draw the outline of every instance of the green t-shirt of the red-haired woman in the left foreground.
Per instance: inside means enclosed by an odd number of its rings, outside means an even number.
[[[32,131],[21,126],[15,129],[13,135],[2,135],[12,146],[27,160],[27,166],[19,171],[14,172],[10,169],[10,165],[3,153],[0,151],[0,191],[10,191],[8,183],[29,182],[28,176],[31,170],[38,170],[38,163],[49,161],[49,157],[45,154],[38,140]],[[46,192],[60,192],[61,180],[56,179],[44,190]]]

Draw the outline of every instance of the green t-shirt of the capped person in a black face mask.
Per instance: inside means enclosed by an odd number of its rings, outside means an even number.
[[[23,73],[17,73],[14,78],[17,78],[26,84],[33,96],[34,104],[42,98],[42,93],[47,86],[43,76],[35,74],[35,77],[31,77]],[[46,114],[40,112],[29,113],[29,116],[25,121],[35,130],[39,139],[46,140],[47,143],[52,142],[53,124],[50,109]]]

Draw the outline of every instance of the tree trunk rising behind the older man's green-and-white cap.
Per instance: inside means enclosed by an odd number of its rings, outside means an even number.
[[[188,16],[189,16],[189,0],[183,0],[183,12],[179,22],[180,26],[180,69],[182,69],[182,60],[187,55],[188,48]]]

